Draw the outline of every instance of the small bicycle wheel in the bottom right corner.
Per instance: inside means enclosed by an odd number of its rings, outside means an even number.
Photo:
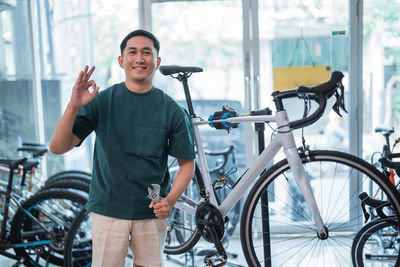
[[[399,254],[399,231],[387,219],[367,223],[352,245],[352,261],[357,267],[396,266]]]

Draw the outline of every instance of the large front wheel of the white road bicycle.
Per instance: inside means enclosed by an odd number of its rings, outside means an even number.
[[[306,173],[312,175],[308,178],[329,236],[325,240],[317,237],[311,217],[304,216],[303,221],[297,222],[291,222],[291,218],[288,218],[291,212],[287,211],[292,207],[284,198],[290,199],[287,187],[288,180],[293,176],[284,159],[261,175],[243,207],[240,236],[249,266],[261,266],[264,263],[270,266],[351,266],[352,239],[364,220],[358,194],[367,191],[369,183],[374,189],[381,188],[381,199],[391,202],[398,221],[398,193],[366,161],[336,151],[309,151],[307,155],[300,154],[300,158]],[[259,202],[266,191],[270,200],[269,220],[259,215],[261,207],[265,211],[266,204]],[[262,229],[261,222],[269,223],[270,229]],[[268,235],[271,241],[264,242],[263,238]],[[268,248],[270,255],[265,252]],[[397,258],[396,266],[399,262]]]

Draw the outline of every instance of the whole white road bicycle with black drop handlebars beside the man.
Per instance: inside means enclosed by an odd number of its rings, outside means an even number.
[[[300,147],[295,143],[293,130],[317,121],[330,97],[336,96],[333,109],[338,114],[339,108],[345,110],[341,72],[333,72],[330,81],[319,86],[274,92],[275,115],[265,115],[261,110],[238,116],[225,107],[211,119],[202,120],[195,114],[188,86],[188,78],[201,71],[198,67],[160,67],[162,74],[183,84],[198,153],[192,183],[170,217],[166,253],[189,251],[203,237],[215,244],[217,250],[205,257],[206,265],[223,266],[227,256],[220,240],[229,223],[228,212],[251,186],[240,221],[240,239],[249,266],[351,266],[352,241],[364,224],[361,192],[380,188],[379,199],[389,201],[390,212],[399,218],[398,193],[372,165],[350,154],[312,151],[305,142]],[[302,119],[288,118],[283,103],[288,98],[304,100]],[[318,108],[312,110],[311,101]],[[226,198],[219,200],[210,180],[199,127],[211,124],[217,129],[230,130],[244,122],[275,123],[275,134]],[[281,148],[286,158],[266,169]],[[297,185],[302,200],[299,194],[293,194],[293,184]],[[292,219],[294,213],[298,214],[296,220]],[[399,264],[397,257],[395,266]]]

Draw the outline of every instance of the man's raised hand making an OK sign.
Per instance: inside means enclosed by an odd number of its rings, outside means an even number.
[[[79,109],[92,101],[99,92],[99,87],[96,86],[96,82],[94,80],[89,80],[95,67],[91,67],[89,71],[88,69],[89,67],[85,66],[85,69],[79,73],[78,79],[76,79],[72,89],[69,105],[76,109]],[[89,91],[90,87],[93,88],[92,92]]]

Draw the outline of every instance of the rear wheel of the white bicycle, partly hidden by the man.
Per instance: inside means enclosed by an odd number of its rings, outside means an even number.
[[[201,173],[196,164],[192,180],[184,192],[184,195],[190,197],[196,203],[199,203],[201,190],[204,190],[204,185],[199,181],[202,181]],[[176,255],[192,249],[201,237],[196,227],[195,216],[172,208],[168,220],[170,227],[167,231],[164,253]]]

